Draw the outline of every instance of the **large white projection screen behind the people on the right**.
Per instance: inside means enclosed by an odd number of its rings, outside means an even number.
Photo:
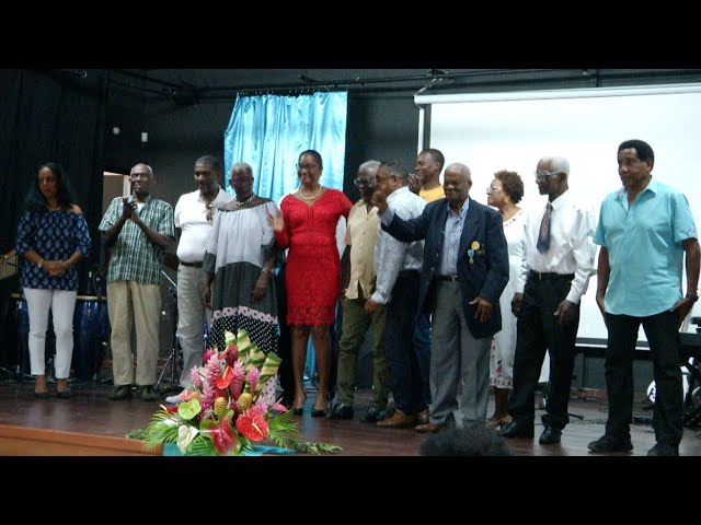
[[[570,160],[570,190],[588,200],[597,215],[604,197],[620,187],[618,145],[642,139],[655,152],[653,177],[682,190],[701,228],[701,84],[578,89],[459,95],[417,95],[430,106],[429,139],[421,129],[420,149],[437,148],[446,165],[462,162],[472,173],[470,196],[486,203],[495,172],[510,170],[524,179],[520,206],[544,206],[533,172],[540,158]],[[428,120],[428,119],[427,119]],[[598,256],[598,253],[597,253]],[[686,283],[685,283],[686,291]],[[596,306],[596,276],[582,301],[578,340],[596,346],[607,338]],[[697,305],[692,315],[699,315]],[[685,323],[683,331],[693,331]],[[596,341],[593,341],[595,339]],[[639,339],[645,340],[641,328]]]

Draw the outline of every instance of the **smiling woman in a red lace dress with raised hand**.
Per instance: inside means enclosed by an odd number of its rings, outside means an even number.
[[[331,337],[336,302],[341,293],[341,259],[336,247],[336,224],[348,218],[353,206],[337,189],[320,183],[323,163],[313,150],[303,151],[297,163],[300,187],[280,202],[281,214],[271,217],[275,238],[289,248],[286,268],[287,324],[291,326],[292,410],[301,416],[304,406],[303,371],[311,334],[319,372],[319,389],[312,417],[321,417],[329,405]]]

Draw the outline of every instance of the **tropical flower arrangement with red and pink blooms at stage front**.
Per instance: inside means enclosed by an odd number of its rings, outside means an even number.
[[[241,455],[265,440],[298,445],[292,413],[275,400],[280,358],[262,352],[245,330],[227,331],[225,347],[208,349],[205,365],[193,368],[185,401],[156,412],[145,448],[176,443],[182,454]]]

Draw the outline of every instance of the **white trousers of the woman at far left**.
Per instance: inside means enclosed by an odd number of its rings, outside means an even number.
[[[46,375],[46,329],[48,312],[51,312],[54,334],[56,334],[56,378],[66,380],[70,375],[73,355],[73,311],[78,292],[69,290],[44,290],[25,288],[27,313],[30,314],[30,363],[32,375]]]

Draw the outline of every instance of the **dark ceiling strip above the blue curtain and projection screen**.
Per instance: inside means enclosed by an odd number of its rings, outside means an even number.
[[[64,70],[71,72],[71,70]],[[347,90],[357,95],[594,88],[696,80],[699,69],[111,69],[110,84],[152,101],[183,104],[235,95]]]

